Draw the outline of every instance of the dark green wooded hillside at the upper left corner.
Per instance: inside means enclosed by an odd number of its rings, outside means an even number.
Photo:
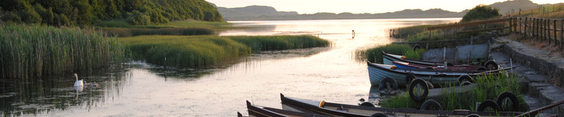
[[[94,25],[114,19],[131,25],[190,19],[224,22],[204,0],[2,0],[0,7],[0,20],[55,26]]]

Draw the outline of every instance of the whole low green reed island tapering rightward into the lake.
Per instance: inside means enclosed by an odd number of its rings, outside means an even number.
[[[174,67],[205,67],[250,55],[252,50],[330,45],[315,36],[133,36],[119,42],[127,44],[135,60]]]

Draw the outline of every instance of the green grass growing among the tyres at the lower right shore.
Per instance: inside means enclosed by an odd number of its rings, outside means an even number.
[[[455,90],[441,90],[441,100],[436,100],[441,104],[443,110],[453,111],[455,109],[468,109],[476,111],[476,102],[484,102],[486,99],[496,100],[496,97],[502,92],[513,92],[517,95],[520,109],[510,111],[527,111],[525,99],[520,95],[520,85],[515,74],[506,76],[505,74],[478,76],[476,87],[467,93],[454,93]],[[449,85],[451,86],[451,85]],[[403,95],[392,97],[381,101],[381,106],[388,108],[415,108],[419,109],[422,103],[414,102],[410,96],[405,93]]]

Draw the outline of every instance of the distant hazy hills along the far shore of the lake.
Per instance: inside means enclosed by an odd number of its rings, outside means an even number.
[[[537,8],[530,0],[511,0],[489,5],[498,8],[500,13],[513,13],[520,8]],[[405,9],[387,13],[313,13],[299,14],[296,11],[276,11],[271,6],[245,6],[239,8],[217,7],[225,20],[333,20],[333,19],[383,19],[383,18],[462,18],[468,11],[445,11],[441,8]]]

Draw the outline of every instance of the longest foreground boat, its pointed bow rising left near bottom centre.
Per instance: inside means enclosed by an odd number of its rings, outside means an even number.
[[[432,111],[417,109],[389,109],[374,106],[357,106],[349,104],[337,104],[325,101],[284,97],[280,94],[282,108],[290,111],[314,111],[329,116],[373,116],[376,114],[384,116],[467,116],[477,114],[479,116],[516,116],[516,112],[475,112],[467,110],[457,111]]]

